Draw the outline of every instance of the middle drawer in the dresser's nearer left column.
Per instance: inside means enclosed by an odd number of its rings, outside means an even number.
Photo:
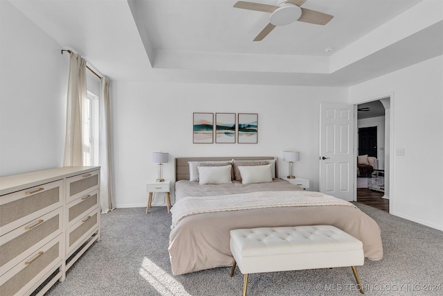
[[[1,236],[0,275],[62,234],[62,231],[62,208],[58,208]]]

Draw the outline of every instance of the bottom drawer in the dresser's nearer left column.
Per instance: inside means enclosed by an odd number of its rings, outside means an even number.
[[[0,277],[0,295],[26,295],[42,284],[42,277],[57,265],[62,266],[62,235],[39,248]],[[28,292],[28,293],[27,293]]]

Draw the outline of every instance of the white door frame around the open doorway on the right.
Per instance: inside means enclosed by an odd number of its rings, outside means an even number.
[[[394,141],[394,110],[395,110],[395,94],[394,92],[386,92],[385,94],[380,94],[377,96],[372,96],[370,98],[365,98],[362,101],[359,101],[358,103],[354,101],[354,168],[357,167],[357,156],[359,154],[359,151],[357,149],[357,141],[359,137],[359,128],[357,127],[357,120],[358,120],[358,111],[357,106],[363,103],[368,103],[371,101],[377,101],[382,100],[383,98],[389,98],[390,99],[390,112],[389,112],[389,149],[385,149],[385,166],[386,164],[389,164],[389,171],[388,171],[388,196],[389,196],[389,213],[395,212],[395,184],[392,182],[394,180],[395,172],[393,168],[395,168],[395,141]],[[386,114],[385,114],[386,116]],[[385,117],[385,126],[386,126],[386,117]],[[386,129],[386,128],[385,128]],[[386,147],[386,143],[385,143]],[[389,161],[386,162],[386,152],[389,153]],[[386,175],[385,175],[386,176]],[[354,202],[357,200],[357,176],[354,174]]]

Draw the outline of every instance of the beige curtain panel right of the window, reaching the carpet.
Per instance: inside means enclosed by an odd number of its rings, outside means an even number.
[[[100,85],[100,207],[102,214],[114,209],[114,165],[112,162],[111,105],[109,80],[101,79]]]

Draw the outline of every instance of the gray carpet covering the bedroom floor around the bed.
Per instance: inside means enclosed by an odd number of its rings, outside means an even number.
[[[443,232],[356,203],[379,223],[384,258],[359,266],[365,295],[443,295]],[[102,215],[102,240],[47,295],[242,295],[238,268],[174,277],[165,207],[116,209]],[[248,295],[360,295],[351,268],[249,276]]]

